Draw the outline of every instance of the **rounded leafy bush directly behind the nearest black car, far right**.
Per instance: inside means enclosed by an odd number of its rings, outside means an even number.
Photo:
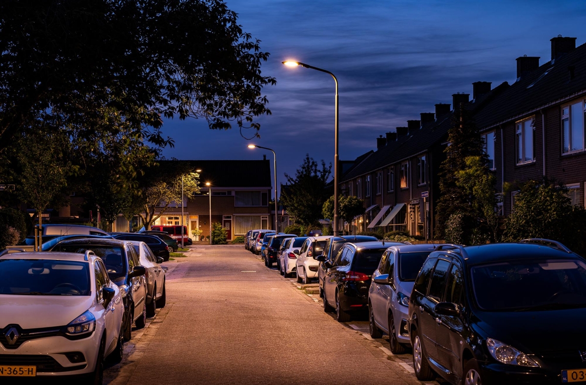
[[[520,185],[513,211],[505,222],[506,242],[546,238],[586,255],[586,211],[572,205],[568,188],[554,180],[529,180]]]

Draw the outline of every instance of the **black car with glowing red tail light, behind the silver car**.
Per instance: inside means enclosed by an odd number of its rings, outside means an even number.
[[[350,321],[357,311],[363,311],[368,304],[370,277],[384,251],[401,242],[348,242],[342,246],[333,263],[319,256],[329,269],[323,280],[323,311],[335,309],[339,322]],[[332,308],[334,307],[334,308]]]

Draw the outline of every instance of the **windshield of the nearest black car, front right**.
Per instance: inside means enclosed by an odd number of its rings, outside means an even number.
[[[506,262],[471,269],[476,302],[488,311],[586,307],[586,264],[579,260]]]

